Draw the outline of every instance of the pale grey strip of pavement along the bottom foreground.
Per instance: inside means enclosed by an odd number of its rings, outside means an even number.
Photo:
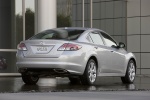
[[[150,91],[6,93],[0,100],[150,100]]]

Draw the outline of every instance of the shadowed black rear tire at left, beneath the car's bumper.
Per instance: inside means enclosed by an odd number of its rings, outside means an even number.
[[[27,85],[35,85],[38,82],[39,77],[36,75],[22,74],[22,80]]]

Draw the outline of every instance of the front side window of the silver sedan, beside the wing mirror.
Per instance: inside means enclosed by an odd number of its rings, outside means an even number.
[[[109,35],[102,33],[102,32],[101,32],[101,34],[102,34],[107,46],[110,46],[110,47],[117,46],[116,42]]]

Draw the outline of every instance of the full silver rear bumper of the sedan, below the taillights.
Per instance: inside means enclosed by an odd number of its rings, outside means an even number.
[[[82,56],[61,56],[59,58],[25,58],[17,57],[17,68],[20,69],[52,69],[64,70],[70,74],[82,75],[85,69],[85,61]],[[34,71],[34,70],[32,70]],[[59,72],[58,72],[59,73]]]

